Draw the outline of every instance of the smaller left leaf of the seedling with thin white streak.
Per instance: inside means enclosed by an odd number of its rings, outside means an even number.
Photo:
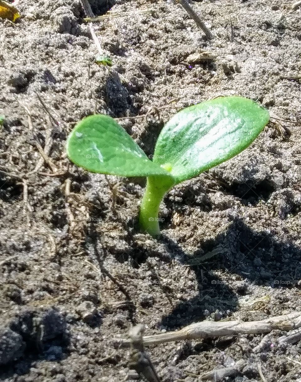
[[[90,172],[172,178],[149,160],[124,128],[108,115],[90,115],[77,123],[67,140],[67,154],[72,162]]]

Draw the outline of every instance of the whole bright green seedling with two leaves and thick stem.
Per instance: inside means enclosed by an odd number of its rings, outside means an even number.
[[[67,141],[69,159],[94,173],[146,176],[139,225],[159,235],[159,206],[175,185],[246,149],[269,121],[269,112],[243,97],[218,97],[181,110],[163,127],[150,160],[108,115],[82,119]]]

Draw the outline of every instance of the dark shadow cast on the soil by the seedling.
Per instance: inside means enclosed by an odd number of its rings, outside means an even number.
[[[247,279],[257,285],[272,288],[296,286],[301,277],[301,251],[290,242],[281,243],[270,233],[250,230],[240,219],[233,220],[224,234],[214,240],[200,243],[202,251],[193,256],[186,254],[180,246],[167,236],[160,240],[172,258],[177,257],[188,264],[198,279],[199,295],[183,301],[164,317],[162,324],[180,327],[204,319],[204,310],[230,313],[238,306],[238,297],[248,294],[248,286],[231,290],[212,271],[222,270],[233,274],[238,280]],[[212,255],[207,260],[203,254]]]

